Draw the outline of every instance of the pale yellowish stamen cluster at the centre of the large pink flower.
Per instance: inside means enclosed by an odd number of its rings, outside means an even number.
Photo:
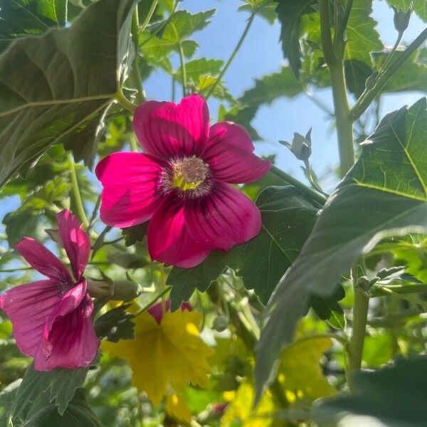
[[[209,167],[199,157],[186,157],[172,164],[172,185],[182,191],[194,190],[204,183]]]

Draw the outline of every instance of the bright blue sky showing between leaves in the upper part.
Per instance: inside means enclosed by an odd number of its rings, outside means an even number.
[[[192,13],[207,9],[217,9],[212,23],[203,31],[194,34],[199,43],[196,58],[206,57],[226,60],[233,51],[243,28],[246,26],[248,13],[238,12],[241,0],[184,0],[180,9]],[[393,11],[385,1],[374,1],[374,19],[378,21],[377,30],[386,45],[393,45],[396,31],[393,25]],[[411,23],[404,35],[404,41],[411,42],[423,30],[423,22],[417,16],[411,17]],[[255,19],[245,43],[236,56],[233,64],[225,75],[226,85],[233,95],[239,96],[251,88],[255,78],[280,70],[285,63],[279,43],[280,25],[276,22],[269,25],[259,17]],[[162,73],[153,75],[144,85],[151,99],[169,100],[171,84],[169,78]],[[179,94],[179,88],[177,88]],[[420,93],[405,93],[384,97],[381,115],[391,110],[411,104]],[[330,90],[323,90],[318,97],[332,107]],[[218,102],[209,101],[211,117],[215,119]],[[292,100],[280,99],[271,105],[260,108],[253,125],[265,142],[257,144],[258,154],[278,154],[278,166],[287,172],[302,177],[300,163],[292,154],[278,143],[279,139],[292,140],[293,132],[305,135],[310,127],[312,130],[312,166],[319,174],[337,164],[337,143],[331,128],[332,122],[325,119],[325,113],[308,100],[305,95]]]

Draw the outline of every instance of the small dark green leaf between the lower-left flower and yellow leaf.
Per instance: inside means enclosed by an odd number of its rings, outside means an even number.
[[[130,304],[123,304],[107,311],[95,322],[95,332],[97,337],[117,342],[119,339],[134,339],[135,323],[132,319],[135,317],[126,312]]]

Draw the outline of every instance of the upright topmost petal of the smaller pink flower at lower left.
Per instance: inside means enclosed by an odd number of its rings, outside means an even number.
[[[83,224],[68,209],[60,211],[56,216],[56,221],[60,240],[70,260],[75,280],[80,280],[89,260],[90,238],[82,230]]]

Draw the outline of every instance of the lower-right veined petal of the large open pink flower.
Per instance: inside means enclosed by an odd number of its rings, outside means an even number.
[[[258,207],[230,184],[216,181],[210,194],[188,199],[185,221],[195,241],[229,251],[255,237],[261,229]]]

